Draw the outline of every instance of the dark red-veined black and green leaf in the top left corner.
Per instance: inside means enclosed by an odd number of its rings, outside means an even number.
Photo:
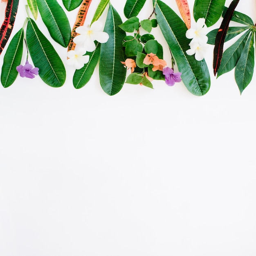
[[[16,13],[18,9],[19,0],[8,0],[5,9],[4,22],[0,28],[0,54],[4,49],[9,37],[11,36],[11,31],[13,29],[14,21],[16,18]]]

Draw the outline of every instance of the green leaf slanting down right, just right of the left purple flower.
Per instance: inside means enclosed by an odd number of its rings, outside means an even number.
[[[32,19],[27,24],[27,46],[35,67],[39,68],[39,76],[52,87],[60,87],[66,79],[65,67],[49,40],[38,29]]]

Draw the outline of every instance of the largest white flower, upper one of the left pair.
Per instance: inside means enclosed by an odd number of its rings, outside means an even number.
[[[94,41],[106,43],[108,41],[108,33],[102,32],[103,24],[97,20],[92,23],[91,27],[80,26],[76,28],[76,33],[80,34],[73,39],[77,45],[83,46],[88,52],[93,52],[96,49]]]

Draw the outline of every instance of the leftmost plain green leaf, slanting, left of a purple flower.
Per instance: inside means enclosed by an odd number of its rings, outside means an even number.
[[[16,67],[20,65],[23,52],[24,31],[20,29],[11,39],[11,42],[4,55],[2,65],[1,83],[4,88],[10,86],[15,81],[18,71]]]

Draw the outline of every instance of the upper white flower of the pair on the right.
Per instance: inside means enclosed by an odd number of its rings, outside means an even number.
[[[207,34],[207,27],[205,25],[205,19],[199,18],[196,22],[197,29],[188,29],[186,31],[186,38],[192,39],[191,42],[199,42],[201,45],[207,43],[208,37]]]

